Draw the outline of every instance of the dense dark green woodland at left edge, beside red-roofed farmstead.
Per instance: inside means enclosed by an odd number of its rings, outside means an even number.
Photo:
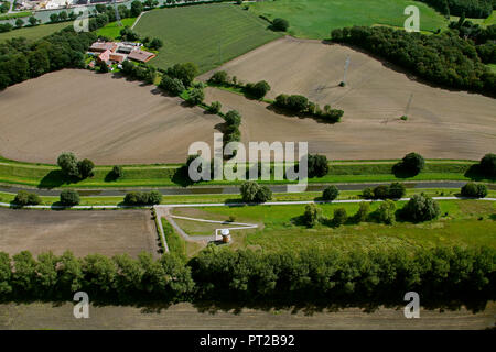
[[[83,68],[94,33],[64,29],[42,40],[12,38],[0,44],[0,89],[62,68]]]

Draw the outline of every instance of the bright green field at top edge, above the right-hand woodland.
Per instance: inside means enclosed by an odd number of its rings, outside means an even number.
[[[433,32],[448,25],[435,10],[418,1],[407,0],[278,0],[249,4],[249,11],[271,20],[290,22],[290,34],[305,38],[328,38],[331,30],[352,25],[390,25],[402,28],[405,8],[420,10],[420,30]]]

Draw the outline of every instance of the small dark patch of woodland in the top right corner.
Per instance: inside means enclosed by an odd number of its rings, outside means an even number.
[[[466,15],[468,18],[485,19],[490,15],[493,9],[496,9],[494,0],[419,0],[433,7],[444,14]]]

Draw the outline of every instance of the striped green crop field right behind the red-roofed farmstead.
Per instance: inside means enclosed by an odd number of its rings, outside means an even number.
[[[267,26],[238,6],[205,4],[150,11],[134,31],[163,41],[154,66],[193,62],[204,73],[281,35]]]

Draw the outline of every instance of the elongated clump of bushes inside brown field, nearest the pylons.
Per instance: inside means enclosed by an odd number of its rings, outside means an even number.
[[[292,113],[311,116],[330,123],[339,122],[344,114],[343,110],[332,109],[330,105],[326,105],[324,109],[321,109],[317,103],[314,103],[310,101],[309,98],[300,95],[279,95],[276,97],[273,106],[289,110]]]

